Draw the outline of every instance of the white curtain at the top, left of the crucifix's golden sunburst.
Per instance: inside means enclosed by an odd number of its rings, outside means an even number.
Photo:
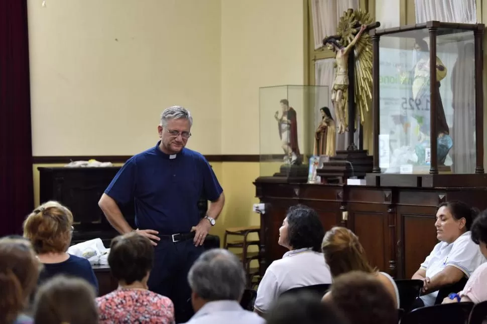
[[[336,34],[340,17],[349,8],[357,10],[358,0],[313,0],[311,2],[315,49],[323,46],[323,38]]]

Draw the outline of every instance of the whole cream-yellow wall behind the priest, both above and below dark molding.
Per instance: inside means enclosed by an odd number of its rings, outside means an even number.
[[[35,156],[137,153],[174,104],[194,115],[190,148],[259,154],[259,88],[304,82],[302,0],[28,1]],[[259,163],[211,165],[212,233],[258,225]]]

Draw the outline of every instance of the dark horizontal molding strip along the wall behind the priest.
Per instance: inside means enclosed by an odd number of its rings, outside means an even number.
[[[132,155],[56,155],[32,156],[33,164],[68,164],[71,161],[87,161],[94,158],[100,162],[125,163]],[[208,162],[259,162],[259,154],[204,155]],[[282,155],[276,155],[282,158]]]

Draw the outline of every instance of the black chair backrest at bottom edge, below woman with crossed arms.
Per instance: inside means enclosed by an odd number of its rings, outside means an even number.
[[[416,308],[403,316],[401,324],[464,324],[468,321],[472,308],[473,302],[455,302]]]

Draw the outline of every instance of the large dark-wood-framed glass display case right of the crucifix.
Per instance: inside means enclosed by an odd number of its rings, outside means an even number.
[[[483,29],[428,22],[371,33],[374,173],[483,173]]]

